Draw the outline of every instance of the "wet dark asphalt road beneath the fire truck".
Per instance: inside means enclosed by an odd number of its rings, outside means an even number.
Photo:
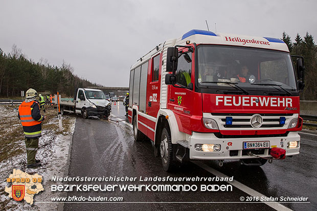
[[[112,103],[113,120],[125,120],[122,102]],[[307,132],[305,132],[307,133]],[[239,161],[194,161],[167,173],[161,159],[154,157],[150,140],[136,143],[127,122],[78,117],[75,125],[69,176],[137,177],[133,182],[72,182],[70,184],[232,184],[232,191],[218,192],[68,192],[67,196],[123,197],[122,202],[65,203],[64,210],[316,210],[317,135],[301,133],[300,154],[285,160],[246,168]],[[144,177],[229,176],[233,182],[145,182]],[[245,203],[251,197],[308,197],[310,203]],[[241,197],[244,200],[241,201]],[[273,202],[273,201],[271,201]]]

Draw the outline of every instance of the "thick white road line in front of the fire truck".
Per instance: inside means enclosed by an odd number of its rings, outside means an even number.
[[[215,176],[229,177],[229,176],[222,174],[221,172],[207,166],[206,164],[204,164],[202,162],[199,162],[199,161],[191,161],[191,162],[194,163],[195,165],[199,166],[200,168],[205,169],[206,171],[212,173]],[[238,182],[237,180],[233,180],[232,182],[231,181],[226,181],[226,182],[228,182],[229,184],[232,184],[233,186],[237,187],[237,189],[240,189],[241,191],[243,191],[244,193],[246,193],[250,196],[259,197],[259,198],[261,198],[261,197],[268,198],[268,197],[264,196],[263,194],[260,194],[259,192],[251,189],[250,187]],[[270,203],[270,202],[263,202],[263,201],[262,201],[262,203],[264,203],[264,204],[266,204],[266,205],[268,205],[276,210],[291,210],[280,203]]]

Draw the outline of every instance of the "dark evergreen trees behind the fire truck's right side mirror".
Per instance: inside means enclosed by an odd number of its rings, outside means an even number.
[[[295,42],[292,42],[285,32],[282,36],[291,55],[304,57],[305,88],[301,93],[301,100],[317,100],[317,45],[314,43],[313,36],[308,32],[303,38],[297,34]]]

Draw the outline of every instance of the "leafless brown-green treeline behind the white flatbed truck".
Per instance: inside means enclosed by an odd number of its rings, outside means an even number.
[[[61,67],[40,59],[35,63],[13,45],[6,54],[0,49],[0,96],[19,97],[21,91],[34,88],[37,92],[48,91],[63,96],[73,96],[75,87],[100,86],[73,74],[73,67],[63,62]]]

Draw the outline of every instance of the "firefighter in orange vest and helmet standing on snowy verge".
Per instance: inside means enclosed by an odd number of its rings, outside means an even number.
[[[38,149],[38,138],[41,136],[42,121],[45,116],[40,114],[39,104],[35,101],[37,93],[34,89],[26,92],[26,100],[19,106],[18,118],[21,120],[27,148],[28,168],[41,166],[35,159]]]

